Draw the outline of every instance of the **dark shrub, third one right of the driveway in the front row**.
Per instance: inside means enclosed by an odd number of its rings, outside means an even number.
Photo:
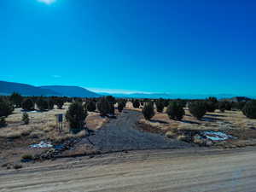
[[[201,119],[207,113],[205,102],[190,102],[189,112],[196,118]]]

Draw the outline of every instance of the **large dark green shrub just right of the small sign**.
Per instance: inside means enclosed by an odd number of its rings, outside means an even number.
[[[73,102],[67,109],[66,119],[70,131],[77,133],[84,128],[84,120],[88,113],[81,102]]]

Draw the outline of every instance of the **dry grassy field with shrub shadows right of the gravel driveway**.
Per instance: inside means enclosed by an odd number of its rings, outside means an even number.
[[[218,110],[207,113],[203,119],[195,119],[189,110],[185,110],[181,121],[169,119],[166,113],[156,113],[150,121],[140,119],[144,131],[166,134],[166,137],[178,138],[183,132],[223,131],[236,139],[215,143],[222,148],[236,148],[256,145],[256,119],[248,119],[241,111]]]

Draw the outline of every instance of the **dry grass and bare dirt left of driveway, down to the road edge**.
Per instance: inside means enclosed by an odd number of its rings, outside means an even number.
[[[60,133],[56,128],[55,114],[65,115],[68,103],[65,103],[63,109],[53,109],[46,112],[32,111],[28,112],[30,117],[29,125],[23,125],[22,111],[16,108],[15,112],[6,119],[8,125],[0,129],[0,163],[20,163],[23,154],[40,154],[44,148],[29,148],[32,143],[41,141],[52,141],[60,143],[70,138],[85,137],[86,132],[81,131],[77,135],[69,133],[67,122],[63,123],[63,131]],[[100,128],[108,118],[102,118],[99,113],[90,113],[86,119],[86,124],[91,130]],[[1,168],[0,168],[1,169]]]

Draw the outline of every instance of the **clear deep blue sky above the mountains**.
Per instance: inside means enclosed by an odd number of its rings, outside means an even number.
[[[254,1],[40,1],[0,1],[1,80],[256,96]]]

